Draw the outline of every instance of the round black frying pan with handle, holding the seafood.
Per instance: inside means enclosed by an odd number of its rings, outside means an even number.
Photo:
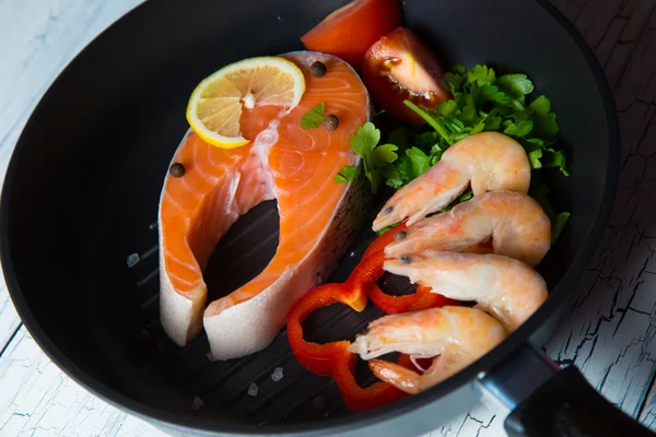
[[[576,368],[559,370],[532,346],[552,332],[594,253],[619,161],[602,71],[574,28],[543,1],[403,4],[405,24],[445,64],[488,62],[526,72],[559,117],[572,175],[547,178],[557,209],[571,211],[572,218],[539,268],[548,300],[507,340],[423,393],[351,415],[329,378],[295,362],[284,330],[258,354],[216,363],[207,359],[203,335],[179,349],[163,333],[153,222],[169,158],[188,128],[184,110],[191,90],[229,62],[302,49],[300,36],[343,3],[148,1],[67,67],[22,132],[0,206],[2,268],[36,342],[94,394],[176,435],[418,435],[490,394],[513,410],[505,423],[511,435],[647,433],[604,401]],[[277,226],[269,202],[231,229],[206,272],[210,299],[266,265]],[[329,281],[343,280],[371,239],[363,229],[352,257]],[[139,256],[127,263],[130,253]],[[352,338],[378,315],[375,308],[319,312],[313,329],[324,341]],[[269,376],[276,367],[285,376],[274,383]],[[256,397],[247,392],[254,382]]]

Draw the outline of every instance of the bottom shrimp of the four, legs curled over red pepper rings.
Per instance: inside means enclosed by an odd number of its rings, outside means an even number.
[[[379,379],[415,394],[476,362],[505,336],[503,327],[485,312],[447,306],[374,320],[349,351],[362,359],[395,351],[410,354],[413,361],[438,355],[423,375],[395,363],[370,361],[370,368]]]

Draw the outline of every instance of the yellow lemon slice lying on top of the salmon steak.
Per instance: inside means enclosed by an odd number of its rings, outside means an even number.
[[[277,56],[244,59],[203,79],[191,93],[187,121],[208,143],[234,149],[247,144],[239,118],[243,107],[298,105],[305,92],[303,72]]]

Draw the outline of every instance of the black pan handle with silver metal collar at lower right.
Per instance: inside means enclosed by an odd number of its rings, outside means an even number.
[[[530,345],[479,378],[511,414],[508,436],[656,436],[622,413],[588,383],[575,367],[560,369]]]

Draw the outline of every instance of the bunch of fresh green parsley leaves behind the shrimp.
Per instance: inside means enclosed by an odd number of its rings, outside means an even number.
[[[496,72],[484,64],[467,70],[455,66],[444,75],[453,98],[435,109],[405,104],[417,113],[425,123],[397,128],[388,133],[388,142],[378,145],[380,131],[367,122],[351,137],[351,149],[363,158],[364,173],[376,193],[380,184],[399,189],[424,174],[435,165],[442,154],[461,139],[483,131],[503,132],[518,141],[528,155],[534,170],[555,167],[570,175],[564,151],[555,146],[558,137],[557,116],[551,111],[551,102],[543,95],[530,99],[535,85],[523,73],[496,76]],[[353,180],[358,167],[344,167],[335,179],[338,182]],[[531,191],[548,190],[535,185]],[[468,193],[448,208],[467,200]],[[549,210],[553,224],[554,239],[562,232],[569,213],[555,214],[546,196],[537,196]]]

